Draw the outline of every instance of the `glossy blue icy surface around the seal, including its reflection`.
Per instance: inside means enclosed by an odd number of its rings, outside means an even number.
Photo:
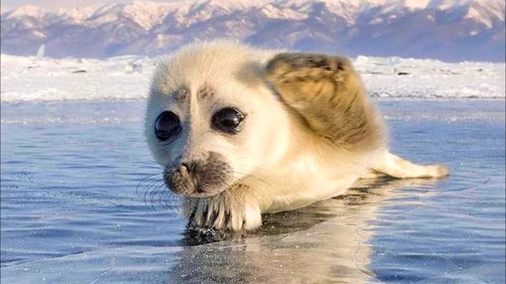
[[[192,245],[177,199],[149,188],[142,101],[2,104],[1,280],[504,283],[504,100],[379,106],[394,152],[451,175],[358,187]]]

